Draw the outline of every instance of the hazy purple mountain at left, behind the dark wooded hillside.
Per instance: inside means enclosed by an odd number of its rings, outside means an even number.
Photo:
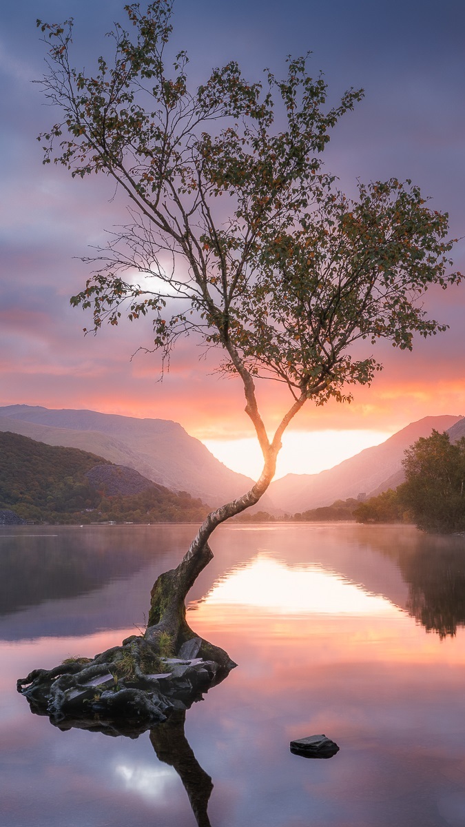
[[[30,405],[0,407],[0,431],[98,454],[139,471],[171,490],[188,491],[204,503],[223,504],[244,494],[252,480],[231,471],[180,424],[90,410],[54,410]],[[273,510],[266,497],[261,509]]]

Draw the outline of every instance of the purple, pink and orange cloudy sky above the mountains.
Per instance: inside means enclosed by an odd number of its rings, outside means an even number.
[[[160,381],[150,325],[108,328],[84,337],[89,323],[70,295],[89,265],[80,256],[102,243],[124,215],[101,176],[71,179],[41,164],[38,133],[58,120],[39,84],[46,47],[36,17],[74,17],[74,62],[90,71],[107,47],[103,35],[122,20],[117,0],[23,0],[2,4],[0,89],[0,404],[88,408],[180,422],[222,461],[255,473],[253,434],[242,386],[214,373],[215,356],[181,342]],[[353,192],[362,181],[410,178],[448,211],[451,237],[465,236],[465,52],[462,0],[176,0],[175,45],[186,48],[193,83],[236,59],[245,74],[284,73],[285,56],[311,50],[330,98],[363,87],[365,98],[333,131],[325,165]],[[465,242],[454,251],[465,270]],[[284,442],[280,475],[319,471],[427,415],[465,414],[465,286],[428,295],[425,307],[448,332],[415,340],[412,353],[377,347],[384,364],[352,404],[308,404]],[[371,353],[367,353],[371,355]],[[288,405],[274,382],[258,385],[271,433]],[[335,433],[336,432],[336,433]]]

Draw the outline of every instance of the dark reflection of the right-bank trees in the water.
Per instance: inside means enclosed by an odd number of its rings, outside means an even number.
[[[390,533],[380,532],[370,540],[398,566],[409,587],[405,608],[427,632],[446,638],[465,626],[465,538],[408,533],[393,543]]]

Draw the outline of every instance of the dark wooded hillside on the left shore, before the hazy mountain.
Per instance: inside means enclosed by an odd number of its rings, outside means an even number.
[[[0,511],[47,523],[198,522],[209,506],[78,448],[0,433]]]

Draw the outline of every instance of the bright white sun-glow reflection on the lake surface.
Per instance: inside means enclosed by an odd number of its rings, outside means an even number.
[[[247,605],[280,614],[395,615],[389,600],[372,595],[323,566],[286,566],[265,555],[218,581],[204,599],[209,605]]]

